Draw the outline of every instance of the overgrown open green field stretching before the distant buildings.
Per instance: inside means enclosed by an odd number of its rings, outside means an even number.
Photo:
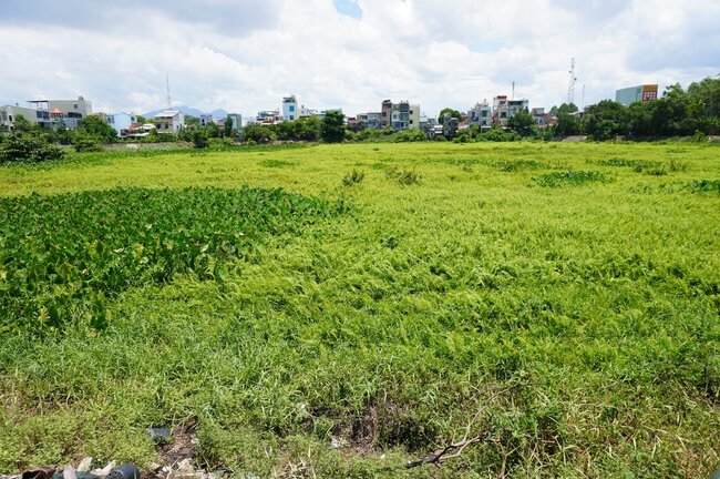
[[[0,472],[187,425],[259,477],[720,466],[718,146],[106,152],[0,196]]]

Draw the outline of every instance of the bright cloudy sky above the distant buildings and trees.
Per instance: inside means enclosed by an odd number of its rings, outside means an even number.
[[[496,94],[552,106],[720,73],[720,0],[0,0],[0,103],[434,115]]]

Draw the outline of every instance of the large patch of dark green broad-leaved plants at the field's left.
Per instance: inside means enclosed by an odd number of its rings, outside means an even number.
[[[343,202],[282,190],[119,188],[0,200],[0,330],[102,329],[104,302],[175,274],[220,281],[265,234],[297,232]]]

